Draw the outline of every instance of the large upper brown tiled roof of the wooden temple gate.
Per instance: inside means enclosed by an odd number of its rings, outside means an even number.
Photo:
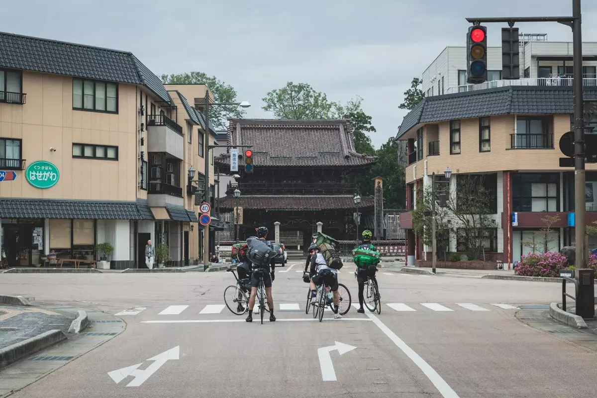
[[[356,153],[352,128],[343,120],[229,119],[229,145],[252,145],[256,167],[365,166],[374,156]],[[229,165],[230,156],[216,161]]]

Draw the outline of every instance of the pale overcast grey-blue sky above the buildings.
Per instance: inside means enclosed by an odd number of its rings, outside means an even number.
[[[583,41],[597,41],[597,0],[582,11]],[[359,95],[378,147],[396,135],[412,79],[466,44],[464,18],[571,14],[571,0],[21,0],[2,5],[0,31],[131,51],[158,76],[214,75],[251,103],[247,118],[272,118],[261,98],[288,81],[341,103]],[[488,24],[488,45],[505,26]],[[558,23],[516,26],[572,40]]]

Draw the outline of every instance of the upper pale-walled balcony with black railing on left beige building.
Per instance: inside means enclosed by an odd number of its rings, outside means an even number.
[[[166,115],[148,115],[147,152],[165,152],[183,159],[183,128]]]

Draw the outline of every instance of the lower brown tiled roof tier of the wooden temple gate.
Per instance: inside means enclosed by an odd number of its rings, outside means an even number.
[[[241,206],[245,209],[263,210],[333,210],[333,209],[354,209],[352,195],[247,195],[235,199],[232,197],[220,199],[221,209],[232,209],[233,206]],[[374,206],[374,199],[362,198],[359,208]]]

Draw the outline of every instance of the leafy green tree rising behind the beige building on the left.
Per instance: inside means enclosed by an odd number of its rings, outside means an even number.
[[[214,94],[216,103],[236,103],[236,90],[216,76],[208,76],[203,72],[193,71],[179,75],[162,75],[164,84],[205,84]],[[190,98],[187,98],[189,100]],[[227,128],[227,118],[242,118],[245,110],[236,105],[210,107],[210,124],[217,129]]]

